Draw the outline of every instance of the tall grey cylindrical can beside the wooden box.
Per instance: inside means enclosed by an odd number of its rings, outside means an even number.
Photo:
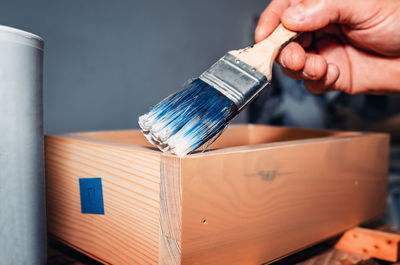
[[[43,40],[0,26],[0,264],[46,263]]]

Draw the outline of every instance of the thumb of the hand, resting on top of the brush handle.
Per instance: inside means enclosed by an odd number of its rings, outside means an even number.
[[[376,10],[377,2],[374,7],[371,0],[297,1],[283,12],[281,21],[285,27],[294,31],[314,31],[330,23],[356,25],[369,17],[364,11]],[[371,4],[372,9],[367,8],[366,5]]]

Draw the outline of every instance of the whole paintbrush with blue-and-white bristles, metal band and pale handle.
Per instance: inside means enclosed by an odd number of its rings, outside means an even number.
[[[218,137],[271,81],[276,56],[296,36],[279,25],[253,47],[228,52],[186,88],[140,116],[144,136],[161,151],[178,156]]]

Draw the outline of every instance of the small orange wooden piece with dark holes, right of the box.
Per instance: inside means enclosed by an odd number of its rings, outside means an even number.
[[[397,262],[400,235],[356,227],[346,231],[335,248]]]

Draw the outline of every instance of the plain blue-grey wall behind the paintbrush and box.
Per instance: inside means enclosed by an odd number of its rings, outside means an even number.
[[[45,39],[46,133],[137,128],[137,117],[230,49],[266,0],[2,0],[0,24]],[[239,117],[239,121],[244,116]]]

